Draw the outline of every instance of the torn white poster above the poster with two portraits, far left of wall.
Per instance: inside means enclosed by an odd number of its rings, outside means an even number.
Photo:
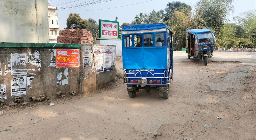
[[[27,60],[27,53],[12,53],[11,54],[11,72],[12,72],[12,75],[27,74],[27,72],[24,72],[25,69],[19,68],[22,65],[27,66],[26,65],[27,61],[26,60]]]

